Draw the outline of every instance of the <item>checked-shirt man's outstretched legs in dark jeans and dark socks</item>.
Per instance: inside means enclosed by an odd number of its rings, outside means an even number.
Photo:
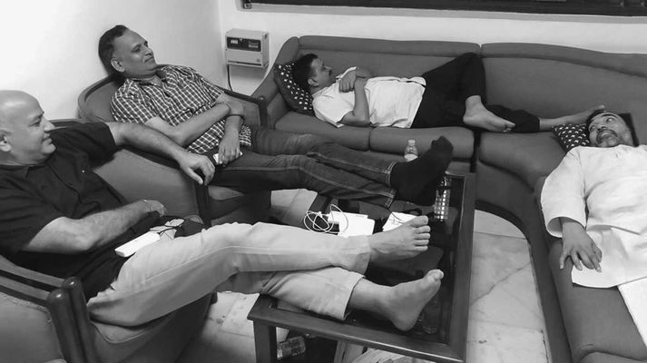
[[[431,205],[452,150],[442,138],[419,160],[395,162],[318,135],[255,128],[251,149],[219,167],[212,183],[239,191],[306,188],[387,208],[394,199]]]

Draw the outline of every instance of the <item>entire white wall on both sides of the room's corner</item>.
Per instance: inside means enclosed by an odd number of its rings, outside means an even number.
[[[123,24],[147,38],[160,63],[185,64],[225,85],[222,38],[231,28],[270,32],[270,61],[290,36],[326,34],[564,44],[645,53],[647,18],[255,6],[240,0],[0,0],[0,89],[34,94],[51,119],[74,117],[76,97],[105,75],[98,38]],[[350,15],[352,13],[352,15]],[[231,67],[235,91],[251,93],[265,70]]]

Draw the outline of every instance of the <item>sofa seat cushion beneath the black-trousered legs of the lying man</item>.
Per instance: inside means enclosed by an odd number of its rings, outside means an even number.
[[[341,129],[346,128],[346,126]],[[416,140],[417,151],[426,152],[431,142],[445,136],[454,146],[454,159],[469,160],[474,152],[474,134],[463,127],[436,127],[429,129],[400,129],[376,127],[370,133],[370,149],[403,155],[408,139]]]

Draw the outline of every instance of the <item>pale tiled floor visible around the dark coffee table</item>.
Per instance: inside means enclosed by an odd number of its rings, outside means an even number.
[[[309,191],[274,192],[274,215],[289,224],[299,223],[313,197]],[[219,294],[205,329],[181,363],[254,362],[254,339],[246,317],[255,299],[255,295]],[[467,361],[549,363],[544,331],[524,236],[508,221],[476,211]],[[279,338],[286,334],[279,332]]]

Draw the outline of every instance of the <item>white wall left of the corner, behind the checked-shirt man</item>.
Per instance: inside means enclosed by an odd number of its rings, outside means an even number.
[[[105,76],[99,36],[123,24],[160,63],[186,64],[222,82],[216,0],[0,0],[0,89],[32,93],[50,119],[76,116],[76,97]]]

